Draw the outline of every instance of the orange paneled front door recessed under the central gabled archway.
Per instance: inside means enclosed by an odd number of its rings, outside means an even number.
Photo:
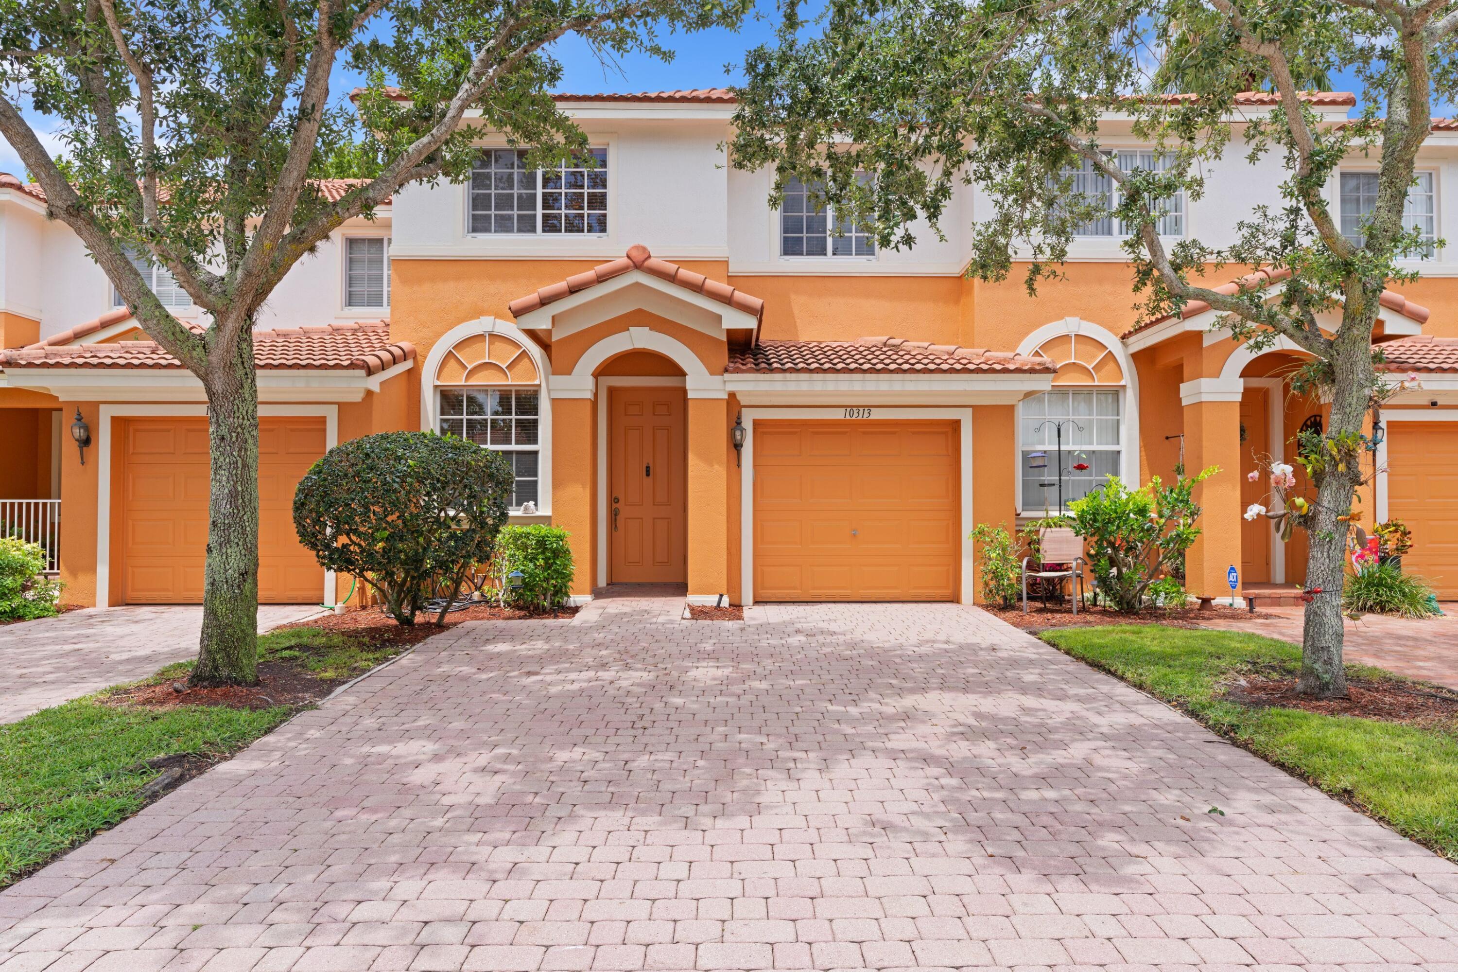
[[[688,454],[682,388],[612,388],[608,582],[688,581]]]

